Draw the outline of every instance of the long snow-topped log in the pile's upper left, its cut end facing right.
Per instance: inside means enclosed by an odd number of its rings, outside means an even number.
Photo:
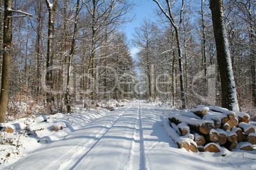
[[[178,114],[170,114],[169,121],[174,122],[175,124],[180,124],[181,122],[187,123],[190,129],[194,131],[209,134],[210,130],[214,128],[213,121],[208,120],[198,120],[191,117],[186,117]]]

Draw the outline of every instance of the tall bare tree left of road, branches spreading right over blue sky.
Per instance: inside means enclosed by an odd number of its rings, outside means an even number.
[[[97,56],[97,49],[103,48],[106,35],[113,34],[117,26],[131,21],[129,12],[132,9],[132,3],[127,0],[89,0],[83,1],[89,13],[90,20],[90,55],[87,68],[87,77],[92,78],[92,84],[86,82],[86,90],[92,85],[90,97],[97,99],[97,75],[96,67],[101,56]],[[90,76],[91,75],[91,76]]]

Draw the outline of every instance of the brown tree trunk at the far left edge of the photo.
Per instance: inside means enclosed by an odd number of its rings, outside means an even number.
[[[11,63],[11,0],[4,0],[3,66],[0,95],[0,122],[5,121],[8,105]]]

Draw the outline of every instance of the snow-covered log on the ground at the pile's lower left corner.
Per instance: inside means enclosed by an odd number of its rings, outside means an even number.
[[[166,130],[167,134],[173,139],[174,143],[178,145],[178,148],[185,148],[185,150],[187,151],[191,150],[192,152],[195,152],[194,147],[190,145],[192,143],[194,146],[197,147],[196,142],[194,142],[190,138],[184,138],[180,136],[173,128],[171,128],[168,119],[164,119],[164,129]]]

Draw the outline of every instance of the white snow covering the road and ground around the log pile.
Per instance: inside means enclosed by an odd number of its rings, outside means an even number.
[[[256,150],[194,153],[177,148],[163,127],[170,112],[132,101],[112,112],[46,116],[47,122],[34,126],[48,128],[36,131],[37,136],[20,135],[20,154],[10,151],[0,169],[256,169]],[[67,128],[52,131],[57,122]]]

